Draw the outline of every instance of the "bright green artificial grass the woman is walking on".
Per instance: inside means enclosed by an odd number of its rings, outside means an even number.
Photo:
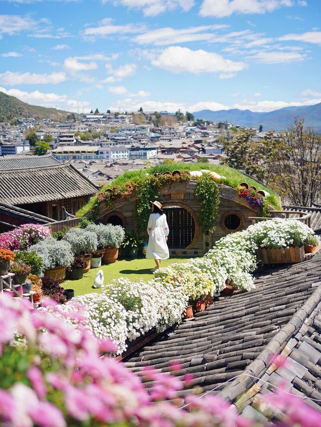
[[[185,263],[189,261],[189,258],[170,258],[168,260],[162,260],[162,267],[168,267],[169,265],[180,262]],[[120,277],[127,277],[131,282],[137,279],[143,279],[145,282],[152,279],[154,275],[150,271],[151,268],[155,267],[153,260],[146,260],[146,258],[136,258],[133,260],[119,260],[113,264],[105,264],[99,268],[93,268],[84,274],[84,277],[79,280],[65,280],[61,286],[65,289],[73,289],[75,296],[89,294],[91,292],[101,292],[100,289],[92,288],[96,274],[98,270],[104,272],[104,285],[111,283],[113,279]]]

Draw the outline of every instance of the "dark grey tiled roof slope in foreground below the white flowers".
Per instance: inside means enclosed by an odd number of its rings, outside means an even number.
[[[267,358],[273,354],[271,348],[263,350],[269,343],[274,352],[284,347],[302,323],[295,313],[308,316],[299,309],[315,290],[320,299],[321,287],[315,287],[321,280],[320,261],[321,255],[316,254],[302,263],[278,266],[258,275],[254,291],[220,297],[205,312],[197,313],[194,321],[183,321],[174,333],[165,333],[125,364],[137,372],[144,365],[169,372],[169,362],[179,360],[183,365],[180,375],[191,373],[195,377],[190,388],[180,392],[182,395],[194,392],[198,385],[203,391],[221,390],[225,398],[235,400],[252,380],[246,382],[244,378],[248,377],[242,377],[234,380],[232,387],[226,381],[244,372],[253,375],[255,371],[261,376]],[[292,318],[295,325],[289,323]]]

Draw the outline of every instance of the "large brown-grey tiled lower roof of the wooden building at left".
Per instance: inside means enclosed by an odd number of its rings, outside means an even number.
[[[0,170],[0,200],[7,204],[61,200],[96,192],[97,186],[70,161],[46,167]]]

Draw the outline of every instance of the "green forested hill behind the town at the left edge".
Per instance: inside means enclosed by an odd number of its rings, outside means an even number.
[[[56,108],[37,107],[20,101],[14,96],[0,92],[0,122],[6,122],[21,117],[35,117],[36,119],[52,119],[65,121],[70,113]]]

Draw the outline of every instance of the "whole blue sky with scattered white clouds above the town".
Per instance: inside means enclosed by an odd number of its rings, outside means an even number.
[[[321,102],[320,0],[0,0],[0,91],[77,113]]]

